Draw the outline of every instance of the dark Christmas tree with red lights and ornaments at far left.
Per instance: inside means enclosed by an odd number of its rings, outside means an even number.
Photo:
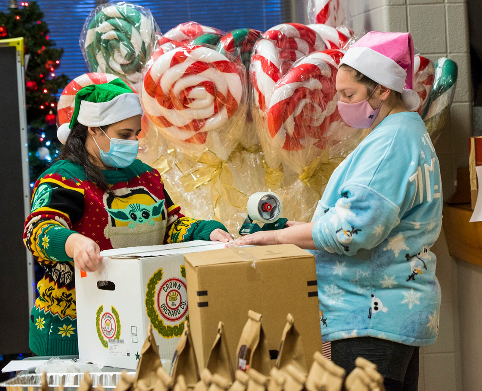
[[[58,155],[57,98],[67,85],[66,75],[57,75],[62,49],[55,48],[47,24],[36,1],[9,3],[8,12],[0,12],[0,39],[24,37],[25,90],[27,101],[28,157],[30,186]]]

